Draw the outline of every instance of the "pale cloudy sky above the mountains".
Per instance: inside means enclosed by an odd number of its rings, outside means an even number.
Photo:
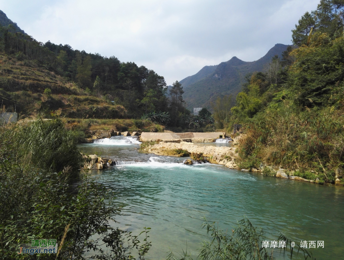
[[[252,62],[320,0],[0,0],[0,10],[41,42],[121,62],[164,76],[168,85],[236,56]]]

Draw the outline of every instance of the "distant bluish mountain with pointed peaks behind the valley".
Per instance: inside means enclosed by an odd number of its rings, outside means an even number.
[[[214,66],[204,66],[195,75],[186,77],[180,83],[183,86],[183,98],[187,108],[211,108],[211,102],[217,97],[232,94],[235,97],[241,90],[241,84],[248,73],[262,71],[271,62],[272,57],[287,50],[288,45],[276,44],[262,58],[254,62],[244,62],[237,57]]]

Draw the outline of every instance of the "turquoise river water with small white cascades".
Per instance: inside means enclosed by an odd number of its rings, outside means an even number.
[[[324,241],[324,248],[312,250],[317,260],[344,259],[343,187],[263,177],[209,163],[185,165],[185,158],[140,153],[135,142],[121,139],[79,147],[117,162],[91,174],[113,190],[116,204],[123,207],[116,226],[134,234],[151,227],[147,260],[166,259],[170,251],[178,256],[186,248],[195,259],[207,239],[203,218],[230,230],[244,216],[262,227],[269,240],[276,240],[281,231],[297,244]]]

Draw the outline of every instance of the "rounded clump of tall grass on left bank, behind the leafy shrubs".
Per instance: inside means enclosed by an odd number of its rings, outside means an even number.
[[[76,147],[75,135],[65,130],[59,119],[38,119],[19,127],[13,142],[18,147],[17,155],[22,165],[37,165],[54,171],[62,171],[64,167],[75,171],[81,166],[82,157]]]

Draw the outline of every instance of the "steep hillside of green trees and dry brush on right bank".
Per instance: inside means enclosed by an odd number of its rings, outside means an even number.
[[[287,168],[319,183],[343,184],[344,2],[321,0],[292,30],[275,81],[254,73],[236,96],[214,106],[219,127],[243,125],[240,167]],[[312,32],[312,33],[311,33]],[[272,174],[264,167],[264,174]],[[275,173],[276,174],[276,173]]]

